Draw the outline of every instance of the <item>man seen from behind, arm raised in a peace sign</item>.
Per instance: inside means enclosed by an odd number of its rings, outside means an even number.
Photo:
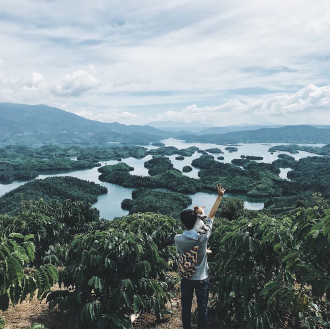
[[[197,297],[198,310],[198,329],[205,329],[207,322],[207,303],[208,303],[208,265],[206,259],[206,244],[213,227],[213,218],[220,205],[224,188],[221,183],[216,184],[217,197],[207,216],[205,225],[208,230],[200,233],[200,242],[197,253],[197,266],[195,273],[188,279],[181,279],[181,306],[182,306],[182,324],[183,329],[191,329],[191,304],[193,290]],[[198,233],[193,229],[197,219],[196,213],[192,209],[183,210],[180,213],[181,222],[185,228],[182,234],[176,234],[174,237],[176,252],[184,253],[191,250],[198,241]]]

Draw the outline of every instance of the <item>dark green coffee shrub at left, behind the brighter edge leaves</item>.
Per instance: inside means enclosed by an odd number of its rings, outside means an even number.
[[[23,210],[17,216],[0,215],[0,232],[20,233],[32,236],[36,245],[34,259],[30,265],[39,267],[42,263],[62,265],[61,245],[69,243],[73,236],[87,232],[98,220],[98,211],[90,203],[42,199],[23,203]]]

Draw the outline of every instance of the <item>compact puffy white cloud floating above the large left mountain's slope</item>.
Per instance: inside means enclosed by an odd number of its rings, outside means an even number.
[[[94,66],[88,65],[87,69],[79,69],[71,74],[61,76],[53,85],[51,91],[53,94],[60,96],[80,96],[99,85],[99,80],[95,74]]]

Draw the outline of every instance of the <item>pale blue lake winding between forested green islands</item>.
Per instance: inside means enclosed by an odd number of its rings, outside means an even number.
[[[240,158],[240,155],[255,155],[255,156],[263,156],[263,160],[259,160],[258,162],[267,162],[270,163],[277,159],[277,155],[279,152],[274,152],[273,154],[270,154],[268,152],[269,147],[275,146],[275,145],[283,145],[283,143],[251,143],[251,144],[239,144],[236,147],[238,150],[236,152],[229,152],[224,149],[226,147],[225,145],[218,145],[213,143],[186,143],[182,140],[174,139],[174,138],[168,138],[165,140],[162,140],[162,142],[165,144],[165,146],[175,146],[178,149],[180,148],[187,148],[189,146],[197,146],[199,149],[207,149],[207,148],[213,148],[218,147],[220,148],[224,153],[223,154],[212,154],[214,158],[216,159],[217,156],[224,156],[224,160],[219,160],[220,162],[230,162],[234,158]],[[322,146],[324,144],[312,144],[312,146]],[[156,148],[156,146],[148,145],[144,146],[147,149]],[[315,154],[308,153],[305,151],[299,151],[299,153],[290,154],[289,152],[283,152],[280,151],[280,153],[286,153],[291,156],[293,156],[296,160],[302,157],[306,156],[313,156]],[[191,165],[191,161],[195,158],[198,158],[201,154],[195,152],[192,156],[186,156],[184,157],[184,160],[175,160],[175,155],[169,156],[170,160],[173,163],[174,168],[179,169],[182,171],[183,166],[185,165]],[[144,168],[144,162],[149,160],[152,156],[147,155],[142,159],[135,159],[133,157],[128,157],[125,159],[122,159],[122,162],[127,163],[128,165],[134,167],[134,170],[131,171],[131,174],[134,175],[148,175],[148,170]],[[105,164],[115,164],[118,163],[116,160],[109,160],[109,161],[100,161],[101,165]],[[95,183],[98,183],[102,186],[105,186],[108,190],[107,194],[102,194],[98,196],[97,202],[93,204],[99,211],[100,211],[100,217],[104,217],[106,219],[112,219],[117,216],[122,216],[128,214],[128,211],[121,209],[120,203],[124,198],[130,198],[131,192],[134,188],[132,187],[122,187],[118,186],[116,184],[101,182],[98,180],[98,175],[100,174],[97,171],[98,167],[94,167],[92,169],[84,169],[84,170],[76,170],[76,171],[70,171],[70,172],[61,172],[61,173],[54,173],[54,174],[40,174],[36,179],[44,179],[45,177],[51,177],[51,176],[72,176],[77,177],[80,179],[85,179],[89,181],[93,181]],[[283,169],[281,168],[281,172],[279,176],[283,179],[286,178],[287,171],[289,171],[289,168]],[[192,171],[184,173],[185,175],[192,177],[192,178],[198,178],[198,169],[192,167]],[[0,195],[3,195],[4,193],[24,184],[26,181],[14,181],[10,184],[0,184]],[[225,186],[223,186],[225,187]],[[205,205],[206,211],[209,211],[211,206],[214,203],[215,197],[216,197],[216,191],[214,186],[214,193],[211,192],[197,192],[195,194],[188,194],[192,198],[191,205],[188,206],[188,208],[192,207],[193,205]],[[224,194],[226,197],[240,197],[244,200],[244,205],[248,209],[262,209],[263,208],[263,202],[265,198],[256,198],[256,197],[248,197],[244,194],[235,194],[235,193],[229,193],[225,192]]]

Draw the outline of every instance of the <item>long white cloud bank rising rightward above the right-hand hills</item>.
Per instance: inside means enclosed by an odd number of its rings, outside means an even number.
[[[320,123],[329,124],[330,85],[309,84],[291,95],[260,99],[249,104],[230,101],[218,106],[197,107],[193,104],[182,111],[169,110],[157,114],[157,120],[178,120],[218,125],[240,123]],[[312,121],[310,121],[313,117]],[[316,122],[317,121],[317,122]]]

